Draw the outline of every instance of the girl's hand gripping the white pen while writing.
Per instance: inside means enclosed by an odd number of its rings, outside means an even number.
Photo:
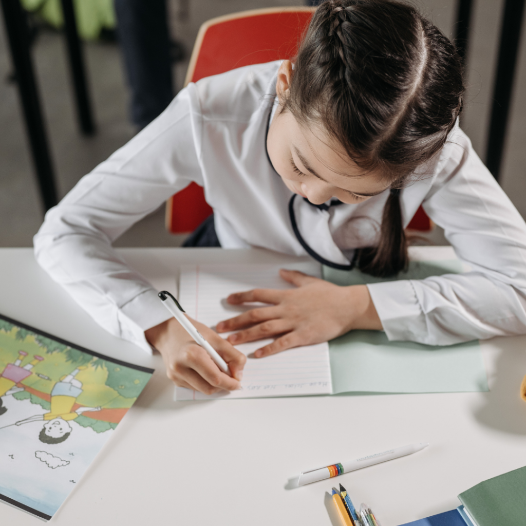
[[[189,318],[190,319],[190,318]],[[246,356],[202,323],[190,319],[224,359],[232,377],[222,372],[208,353],[191,338],[175,318],[145,331],[146,339],[163,356],[166,375],[176,385],[211,395],[222,389],[239,389]]]

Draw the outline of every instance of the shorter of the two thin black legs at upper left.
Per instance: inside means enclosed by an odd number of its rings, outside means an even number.
[[[93,135],[95,133],[95,123],[92,105],[89,100],[84,56],[82,54],[82,45],[78,38],[73,0],[62,0],[62,12],[64,14],[64,31],[66,33],[69,67],[75,89],[80,130],[84,135]]]

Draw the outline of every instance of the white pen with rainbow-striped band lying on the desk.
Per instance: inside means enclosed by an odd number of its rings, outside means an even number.
[[[318,482],[318,480],[337,477],[338,475],[347,473],[348,471],[355,471],[357,469],[373,466],[373,464],[379,464],[380,462],[386,462],[387,460],[404,457],[406,455],[410,455],[411,453],[416,453],[427,446],[429,446],[428,443],[420,442],[418,444],[411,444],[410,446],[403,446],[401,448],[388,449],[387,451],[382,451],[381,453],[368,455],[367,457],[362,457],[355,460],[349,460],[348,462],[340,462],[338,464],[332,464],[332,466],[304,471],[299,476],[298,485],[302,486],[304,484],[310,484],[311,482]]]

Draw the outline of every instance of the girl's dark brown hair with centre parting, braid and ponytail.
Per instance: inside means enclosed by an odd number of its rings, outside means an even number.
[[[285,102],[300,125],[321,124],[364,173],[392,190],[377,247],[357,263],[373,276],[407,267],[398,189],[436,155],[462,109],[453,44],[411,5],[326,0],[312,17]]]

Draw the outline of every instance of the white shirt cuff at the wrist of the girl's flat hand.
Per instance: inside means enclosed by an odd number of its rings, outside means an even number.
[[[428,335],[426,316],[411,280],[373,283],[367,288],[389,340],[424,343]]]

